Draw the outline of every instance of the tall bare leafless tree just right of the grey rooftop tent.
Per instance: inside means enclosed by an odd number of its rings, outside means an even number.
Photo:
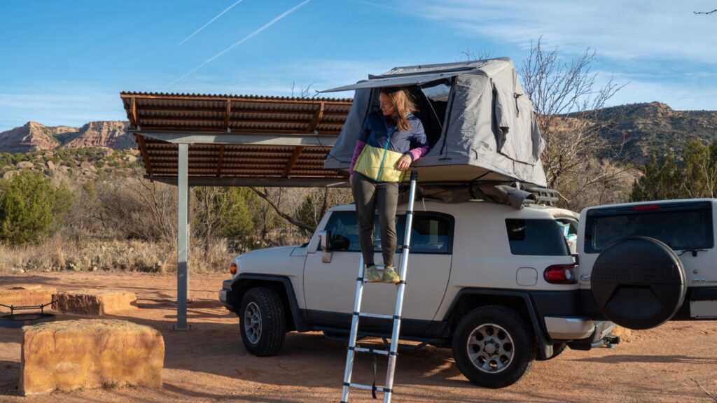
[[[538,130],[545,141],[541,159],[548,186],[560,191],[565,207],[576,207],[577,200],[583,199],[581,193],[607,186],[614,176],[622,176],[619,170],[611,169],[609,175],[592,172],[592,178],[582,177],[587,161],[622,151],[621,144],[603,138],[609,122],[601,113],[625,85],[610,78],[603,87],[595,87],[597,75],[590,70],[595,54],[586,49],[576,59],[564,62],[557,47],[545,49],[539,38],[519,69],[523,90],[533,101]]]

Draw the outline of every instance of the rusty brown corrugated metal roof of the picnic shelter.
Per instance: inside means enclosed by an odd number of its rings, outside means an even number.
[[[222,178],[265,178],[271,186],[277,178],[343,178],[323,169],[331,146],[226,144],[221,138],[242,133],[338,136],[351,99],[135,92],[120,93],[120,98],[150,178],[176,178],[179,157],[176,143],[143,135],[151,132],[199,137],[189,145],[190,179],[215,177],[221,184]]]

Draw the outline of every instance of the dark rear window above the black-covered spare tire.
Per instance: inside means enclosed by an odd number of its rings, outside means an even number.
[[[665,242],[673,250],[714,246],[709,202],[655,204],[645,209],[594,209],[585,222],[585,252],[599,253],[625,237],[644,236]]]

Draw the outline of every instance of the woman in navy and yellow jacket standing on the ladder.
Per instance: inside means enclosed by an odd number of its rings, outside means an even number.
[[[356,201],[359,243],[366,265],[366,280],[398,283],[394,267],[396,207],[399,182],[411,163],[428,152],[428,141],[416,107],[403,88],[384,88],[381,110],[370,113],[353,150],[349,181]],[[374,217],[379,209],[383,277],[374,265]]]

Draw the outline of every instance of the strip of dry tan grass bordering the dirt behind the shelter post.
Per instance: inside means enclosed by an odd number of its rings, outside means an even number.
[[[209,252],[192,245],[192,272],[227,270],[236,255],[223,242],[214,242]],[[176,272],[176,245],[139,240],[68,240],[56,236],[42,245],[0,246],[0,273],[53,272],[62,270],[128,270]]]

